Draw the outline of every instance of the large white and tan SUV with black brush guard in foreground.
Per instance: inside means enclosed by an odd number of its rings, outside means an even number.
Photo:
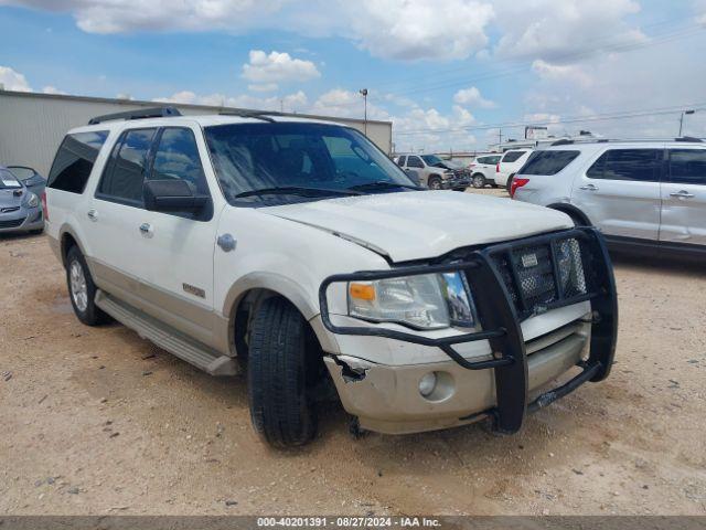
[[[90,124],[45,200],[76,316],[244,370],[276,446],[309,441],[336,392],[356,430],[513,433],[610,371],[610,262],[564,213],[420,190],[339,124],[169,107]]]

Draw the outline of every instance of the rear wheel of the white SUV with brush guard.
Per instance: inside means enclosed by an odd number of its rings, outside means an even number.
[[[97,326],[110,320],[96,303],[96,284],[93,283],[86,259],[77,246],[66,253],[66,284],[76,318],[86,326]]]

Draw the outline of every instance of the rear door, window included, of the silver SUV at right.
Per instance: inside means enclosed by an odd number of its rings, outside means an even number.
[[[606,235],[656,241],[663,149],[608,149],[574,181],[571,202]]]

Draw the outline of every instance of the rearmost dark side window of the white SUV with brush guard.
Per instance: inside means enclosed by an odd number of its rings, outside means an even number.
[[[55,190],[83,193],[107,137],[107,130],[66,135],[56,151],[46,186]]]

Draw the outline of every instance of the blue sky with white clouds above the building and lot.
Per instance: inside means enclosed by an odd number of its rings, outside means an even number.
[[[362,117],[367,87],[427,152],[674,136],[691,107],[706,136],[705,53],[704,0],[0,0],[7,89]]]

